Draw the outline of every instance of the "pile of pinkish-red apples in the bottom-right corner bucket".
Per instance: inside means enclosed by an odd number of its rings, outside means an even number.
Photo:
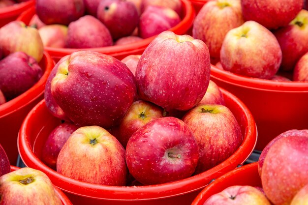
[[[258,161],[261,187],[230,186],[211,196],[204,205],[307,205],[308,130],[278,135]]]

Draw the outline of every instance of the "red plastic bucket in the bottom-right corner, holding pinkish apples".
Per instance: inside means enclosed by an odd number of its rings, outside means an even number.
[[[262,187],[261,178],[258,173],[258,163],[245,165],[220,176],[203,189],[191,205],[203,205],[212,195],[234,185]]]

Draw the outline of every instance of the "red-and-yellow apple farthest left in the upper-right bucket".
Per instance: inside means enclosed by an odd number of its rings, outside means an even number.
[[[227,32],[244,24],[240,0],[208,1],[196,16],[192,37],[203,40],[211,58],[219,58]]]

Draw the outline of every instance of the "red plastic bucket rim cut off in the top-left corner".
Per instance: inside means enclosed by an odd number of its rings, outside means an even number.
[[[34,7],[35,0],[29,0],[21,3],[16,3],[11,6],[0,8],[0,27],[14,21],[17,17],[27,9]]]

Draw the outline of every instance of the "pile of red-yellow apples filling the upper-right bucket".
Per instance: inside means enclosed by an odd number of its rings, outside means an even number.
[[[193,37],[206,43],[220,69],[308,81],[308,11],[303,7],[304,0],[211,0],[195,18]]]

